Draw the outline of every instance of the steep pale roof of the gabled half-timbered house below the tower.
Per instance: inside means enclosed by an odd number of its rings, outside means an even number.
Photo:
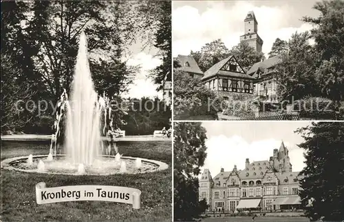
[[[246,73],[230,72],[230,71],[220,70],[230,59],[232,59],[232,57],[234,57],[234,56],[231,55],[230,57],[228,57],[226,59],[222,59],[222,61],[219,61],[218,63],[213,65],[211,68],[206,70],[206,72],[204,72],[204,76],[202,77],[202,80],[214,77],[217,74],[221,74],[221,75],[228,76],[228,77],[239,77],[239,78],[253,79],[252,77],[250,77]],[[235,59],[235,57],[234,57],[234,59]]]

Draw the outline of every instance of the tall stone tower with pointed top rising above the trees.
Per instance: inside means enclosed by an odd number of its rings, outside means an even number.
[[[263,40],[257,33],[258,22],[253,11],[247,13],[244,24],[245,33],[244,35],[241,35],[240,41],[246,41],[248,45],[254,48],[257,52],[261,52],[261,48],[263,47]]]

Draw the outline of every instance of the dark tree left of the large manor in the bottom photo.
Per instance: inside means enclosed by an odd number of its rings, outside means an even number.
[[[199,184],[196,177],[206,159],[206,130],[201,124],[174,125],[175,221],[193,221],[206,208],[204,201],[199,201]]]

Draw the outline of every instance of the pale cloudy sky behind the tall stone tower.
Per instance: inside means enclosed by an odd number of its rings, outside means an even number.
[[[316,1],[173,1],[173,57],[200,50],[205,43],[222,39],[228,49],[239,43],[244,34],[244,19],[253,11],[258,34],[263,39],[267,57],[272,43],[279,38],[288,41],[294,32],[310,30],[300,21],[304,16],[318,17],[312,9]]]

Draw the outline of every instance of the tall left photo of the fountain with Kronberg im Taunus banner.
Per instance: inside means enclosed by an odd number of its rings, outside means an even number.
[[[0,221],[172,221],[171,1],[1,1]]]

